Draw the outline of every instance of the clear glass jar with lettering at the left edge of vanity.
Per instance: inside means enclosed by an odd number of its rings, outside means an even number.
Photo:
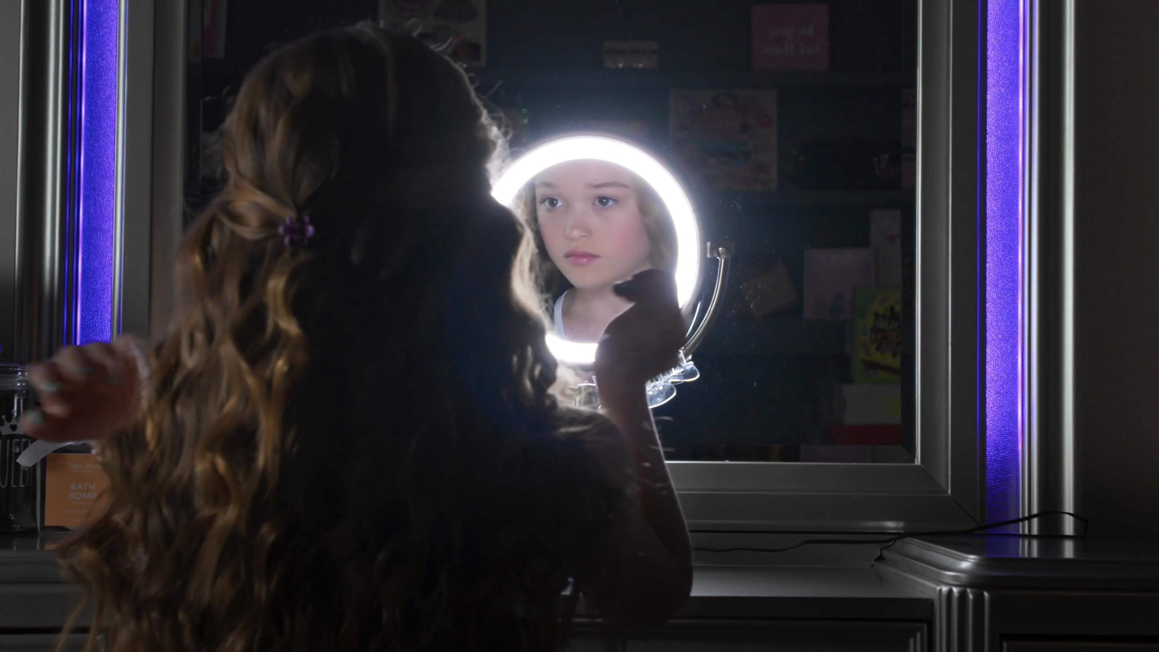
[[[37,527],[36,468],[16,463],[32,439],[24,435],[20,416],[32,408],[28,370],[0,362],[0,533]]]

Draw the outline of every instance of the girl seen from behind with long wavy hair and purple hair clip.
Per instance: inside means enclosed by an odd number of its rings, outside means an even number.
[[[675,288],[621,288],[606,416],[562,407],[495,133],[461,70],[377,28],[250,72],[145,379],[109,345],[34,371],[28,432],[101,440],[111,483],[60,549],[90,652],[540,651],[569,580],[617,622],[683,604],[644,399]]]

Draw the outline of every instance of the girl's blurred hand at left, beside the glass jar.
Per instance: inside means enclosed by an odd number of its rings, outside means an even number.
[[[138,350],[131,338],[119,338],[66,347],[37,364],[30,379],[41,408],[24,414],[24,432],[50,442],[94,441],[127,426],[140,401]]]

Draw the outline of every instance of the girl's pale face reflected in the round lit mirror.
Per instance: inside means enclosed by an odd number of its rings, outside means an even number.
[[[576,288],[612,285],[651,267],[636,183],[627,169],[598,160],[563,162],[535,176],[544,245]]]

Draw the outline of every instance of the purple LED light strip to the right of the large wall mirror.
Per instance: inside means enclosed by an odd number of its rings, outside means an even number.
[[[986,0],[986,520],[1020,516],[1023,0]]]

